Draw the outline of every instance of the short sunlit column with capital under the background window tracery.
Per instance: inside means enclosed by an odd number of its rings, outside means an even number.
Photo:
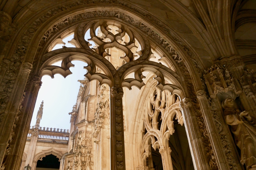
[[[159,153],[162,156],[163,169],[164,170],[172,170],[172,158],[171,158],[171,148],[162,146],[159,149]]]

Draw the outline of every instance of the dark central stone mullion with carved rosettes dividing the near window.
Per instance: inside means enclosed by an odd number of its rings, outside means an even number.
[[[110,93],[110,164],[111,169],[125,169],[123,88],[112,87]]]

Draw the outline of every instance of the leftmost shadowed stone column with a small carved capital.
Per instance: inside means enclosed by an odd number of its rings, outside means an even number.
[[[17,132],[15,133],[14,128],[18,123],[20,123],[20,120],[22,119],[22,117],[20,116],[20,106],[21,102],[24,100],[24,89],[31,69],[32,64],[28,62],[23,63],[23,68],[17,78],[18,82],[16,82],[13,87],[17,90],[14,91],[10,96],[10,98],[16,100],[8,101],[4,112],[3,121],[0,125],[0,160],[1,167],[5,166],[5,169],[10,168],[10,161],[12,160],[11,157],[14,157],[13,150],[16,147],[14,144],[16,140],[13,140],[13,138],[18,135]]]

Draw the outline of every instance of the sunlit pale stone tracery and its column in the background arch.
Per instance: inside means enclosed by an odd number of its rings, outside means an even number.
[[[142,139],[141,154],[142,162],[146,161],[150,154],[149,141],[152,147],[160,148],[159,152],[162,155],[163,166],[171,167],[170,162],[164,160],[171,160],[171,155],[166,153],[171,152],[169,145],[166,145],[166,140],[169,140],[169,135],[174,132],[173,117],[176,115],[178,123],[183,125],[183,116],[180,111],[180,99],[178,96],[173,96],[167,90],[161,91],[157,87],[152,88],[148,95],[144,124],[147,133]],[[177,98],[177,99],[176,99]],[[162,122],[158,122],[158,115],[161,115]]]

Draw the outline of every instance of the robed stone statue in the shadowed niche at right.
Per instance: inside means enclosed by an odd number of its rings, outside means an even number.
[[[256,170],[256,119],[249,112],[236,109],[232,98],[225,99],[222,107],[225,121],[231,125],[236,145],[241,150],[240,162],[245,163],[248,170]]]

